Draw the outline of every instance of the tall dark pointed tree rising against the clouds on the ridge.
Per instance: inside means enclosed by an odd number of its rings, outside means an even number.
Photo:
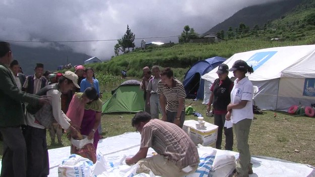
[[[122,51],[123,53],[127,52],[127,48],[128,48],[128,52],[130,52],[130,48],[132,48],[132,50],[135,49],[135,37],[136,35],[131,31],[131,29],[129,29],[129,25],[127,25],[127,31],[124,33],[124,35],[121,37],[121,39],[118,39],[118,43],[114,46],[114,51],[115,54],[119,53],[119,50]]]

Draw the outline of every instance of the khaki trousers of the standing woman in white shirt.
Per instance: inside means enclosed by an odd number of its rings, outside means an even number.
[[[250,125],[251,119],[244,119],[233,124],[233,132],[236,136],[237,150],[239,152],[239,158],[236,162],[236,171],[239,173],[239,176],[248,176],[250,163],[248,135]]]

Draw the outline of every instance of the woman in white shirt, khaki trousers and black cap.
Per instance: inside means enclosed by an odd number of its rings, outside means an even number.
[[[236,176],[248,176],[253,173],[250,164],[250,152],[248,145],[248,135],[253,114],[253,84],[245,76],[246,73],[253,73],[252,67],[246,62],[238,60],[229,70],[233,71],[234,87],[231,91],[231,103],[227,106],[226,120],[232,120],[233,131],[236,135],[237,150],[239,158],[236,163]]]

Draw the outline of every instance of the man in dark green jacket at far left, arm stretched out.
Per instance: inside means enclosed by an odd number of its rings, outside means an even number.
[[[21,125],[24,124],[22,102],[49,103],[46,97],[18,89],[9,69],[12,51],[8,42],[0,41],[0,132],[3,135],[2,176],[26,176],[26,144]]]

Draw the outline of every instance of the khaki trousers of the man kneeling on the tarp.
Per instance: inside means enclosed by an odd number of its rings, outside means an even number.
[[[139,167],[137,173],[147,173],[149,174],[150,169],[155,175],[163,177],[180,177],[193,173],[197,170],[198,164],[192,166],[193,170],[185,173],[179,167],[175,165],[174,162],[169,160],[163,155],[154,155],[152,157],[144,158],[139,160]]]

